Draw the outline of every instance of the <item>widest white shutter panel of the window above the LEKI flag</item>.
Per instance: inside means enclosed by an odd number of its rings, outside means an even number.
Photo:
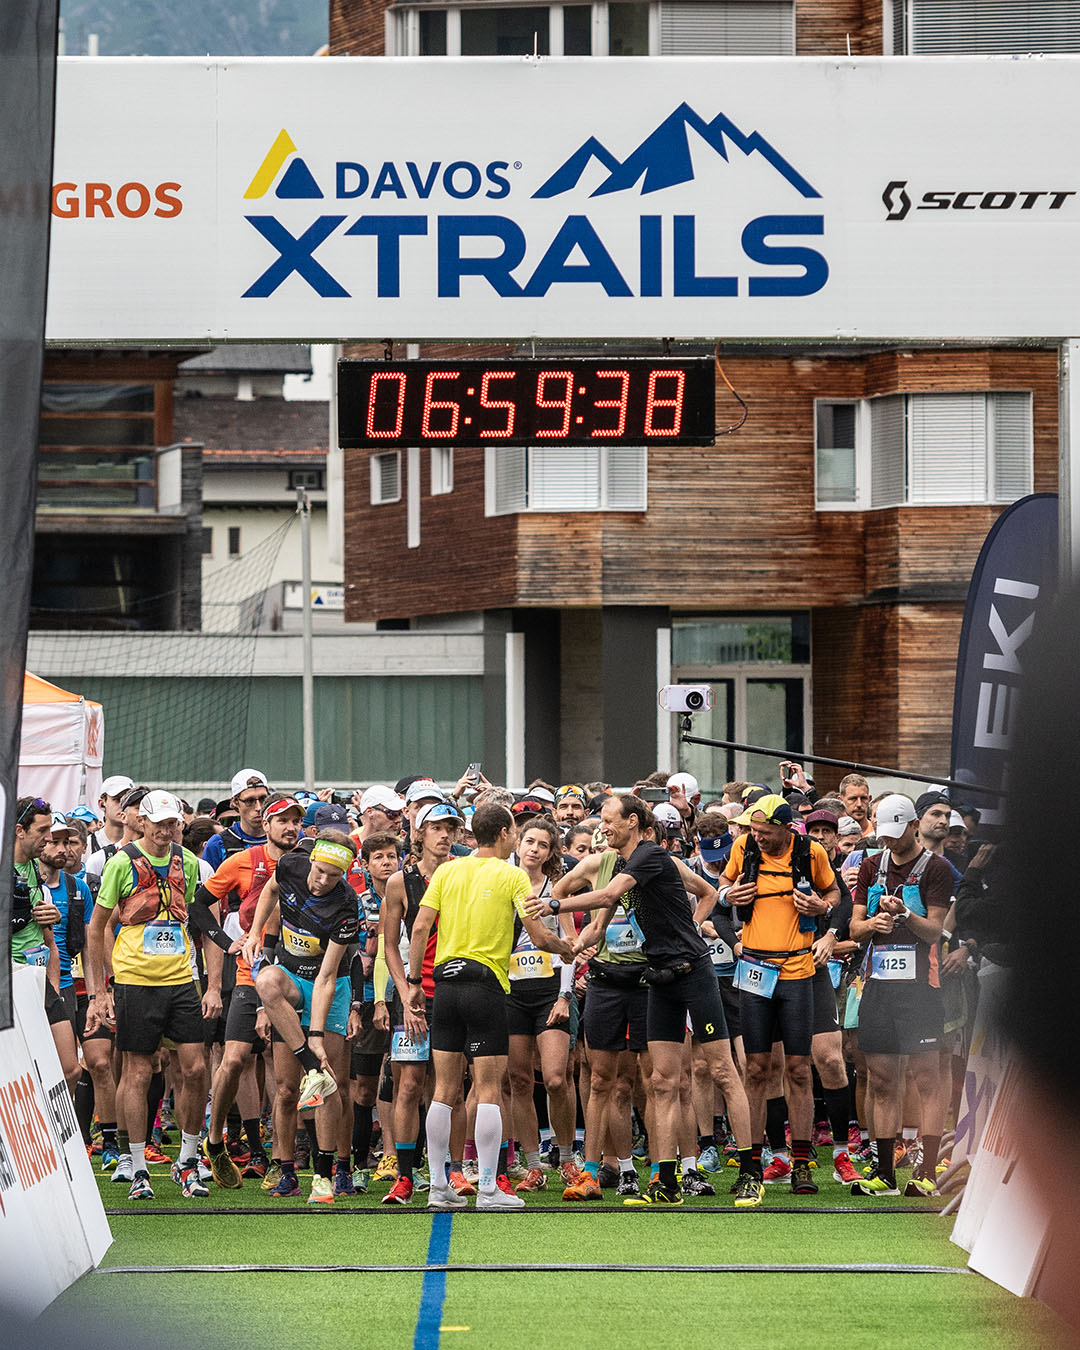
[[[909,394],[909,501],[987,500],[986,394]]]

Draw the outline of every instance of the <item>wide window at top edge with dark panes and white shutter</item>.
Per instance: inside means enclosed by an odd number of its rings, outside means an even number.
[[[900,3],[900,0],[896,0]],[[387,55],[771,57],[795,54],[795,0],[396,4]]]

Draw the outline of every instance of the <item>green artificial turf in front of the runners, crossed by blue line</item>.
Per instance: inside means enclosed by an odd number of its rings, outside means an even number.
[[[367,1196],[339,1202],[332,1212],[302,1197],[271,1200],[256,1181],[240,1191],[211,1187],[207,1200],[185,1200],[163,1169],[153,1177],[153,1207],[180,1214],[150,1215],[128,1202],[127,1187],[101,1179],[115,1242],[104,1268],[122,1265],[424,1265],[431,1218],[423,1196],[409,1211],[379,1206],[387,1183]],[[778,1214],[779,1207],[813,1210],[857,1204],[818,1169],[821,1193],[795,1197],[770,1187],[764,1210],[734,1212],[730,1176],[713,1180],[714,1200],[676,1212],[597,1212],[562,1207],[562,1187],[529,1197],[529,1207],[559,1206],[556,1214],[456,1214],[451,1264],[506,1262],[765,1265],[857,1264],[964,1266],[949,1241],[950,1219],[927,1214]],[[605,1192],[605,1202],[614,1202]],[[867,1210],[910,1202],[868,1200]],[[258,1208],[258,1215],[208,1214]],[[709,1212],[720,1208],[724,1212]],[[378,1212],[362,1212],[377,1210]],[[352,1215],[350,1214],[352,1211]],[[360,1212],[356,1212],[360,1211]],[[772,1212],[771,1212],[772,1211]],[[354,1216],[355,1215],[355,1216]],[[423,1287],[420,1273],[96,1273],[80,1280],[45,1315],[43,1326],[69,1339],[68,1328],[139,1318],[134,1334],[154,1326],[166,1345],[209,1345],[263,1350],[346,1346],[410,1346]],[[1041,1350],[1060,1323],[1040,1304],[1014,1299],[975,1274],[763,1274],[763,1273],[451,1273],[441,1314],[441,1347],[482,1350],[614,1350],[634,1346],[768,1350],[853,1350],[860,1346],[956,1347],[986,1345]],[[462,1330],[459,1330],[462,1328]],[[302,1335],[301,1335],[302,1330]]]

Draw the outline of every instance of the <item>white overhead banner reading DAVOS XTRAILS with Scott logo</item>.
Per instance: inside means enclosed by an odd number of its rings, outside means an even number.
[[[49,338],[1060,336],[1079,119],[1080,57],[70,58]]]

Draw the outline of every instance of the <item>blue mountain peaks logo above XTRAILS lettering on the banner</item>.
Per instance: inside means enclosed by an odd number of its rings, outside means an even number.
[[[752,131],[747,135],[722,112],[717,113],[711,122],[706,122],[688,104],[680,103],[668,117],[664,117],[656,131],[645,136],[641,144],[625,159],[618,159],[595,136],[590,136],[562,167],[555,170],[545,184],[536,189],[533,197],[558,197],[560,193],[576,188],[582,174],[594,159],[608,170],[608,177],[590,193],[593,197],[626,192],[639,182],[643,193],[660,192],[663,188],[674,188],[680,182],[693,182],[694,161],[688,136],[691,130],[716,150],[721,159],[730,162],[728,159],[729,147],[734,147],[747,157],[760,155],[803,197],[821,196],[817,188],[809,184],[760,132]]]

